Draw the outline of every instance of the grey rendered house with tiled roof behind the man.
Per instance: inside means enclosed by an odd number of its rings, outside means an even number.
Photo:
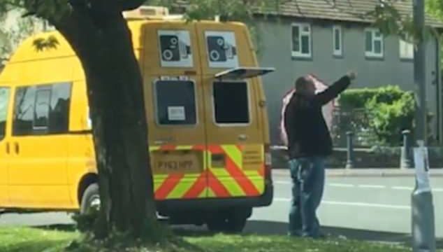
[[[398,36],[384,36],[368,18],[383,0],[281,1],[277,11],[257,13],[259,60],[277,71],[263,77],[268,99],[270,134],[280,144],[282,97],[299,76],[314,73],[333,83],[349,69],[358,71],[354,87],[399,85],[414,90],[414,47]],[[185,0],[177,0],[184,7]],[[402,15],[412,16],[412,0],[395,1]],[[278,18],[277,18],[278,17]],[[426,25],[442,29],[443,23],[426,17]],[[426,44],[426,103],[435,116],[430,128],[442,141],[442,86],[440,41],[430,36]]]

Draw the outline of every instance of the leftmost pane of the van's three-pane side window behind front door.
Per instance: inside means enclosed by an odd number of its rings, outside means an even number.
[[[17,87],[13,118],[13,135],[26,136],[33,133],[36,87]]]

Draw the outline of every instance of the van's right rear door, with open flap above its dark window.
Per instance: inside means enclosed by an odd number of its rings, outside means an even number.
[[[198,22],[196,27],[208,132],[208,197],[263,195],[266,134],[259,86],[247,75],[216,76],[239,66],[256,66],[247,29],[215,22]]]

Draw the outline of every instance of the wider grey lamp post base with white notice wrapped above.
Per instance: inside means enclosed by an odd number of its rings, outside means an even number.
[[[428,148],[423,141],[414,148],[415,188],[412,204],[412,249],[414,252],[435,252],[435,218],[433,194],[429,181]]]

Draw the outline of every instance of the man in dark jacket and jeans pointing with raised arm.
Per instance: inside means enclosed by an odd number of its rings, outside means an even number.
[[[348,73],[318,94],[310,78],[296,80],[296,92],[284,112],[293,181],[289,235],[323,236],[316,211],[324,190],[324,162],[332,154],[333,146],[321,108],[346,90],[355,78],[356,73]]]

